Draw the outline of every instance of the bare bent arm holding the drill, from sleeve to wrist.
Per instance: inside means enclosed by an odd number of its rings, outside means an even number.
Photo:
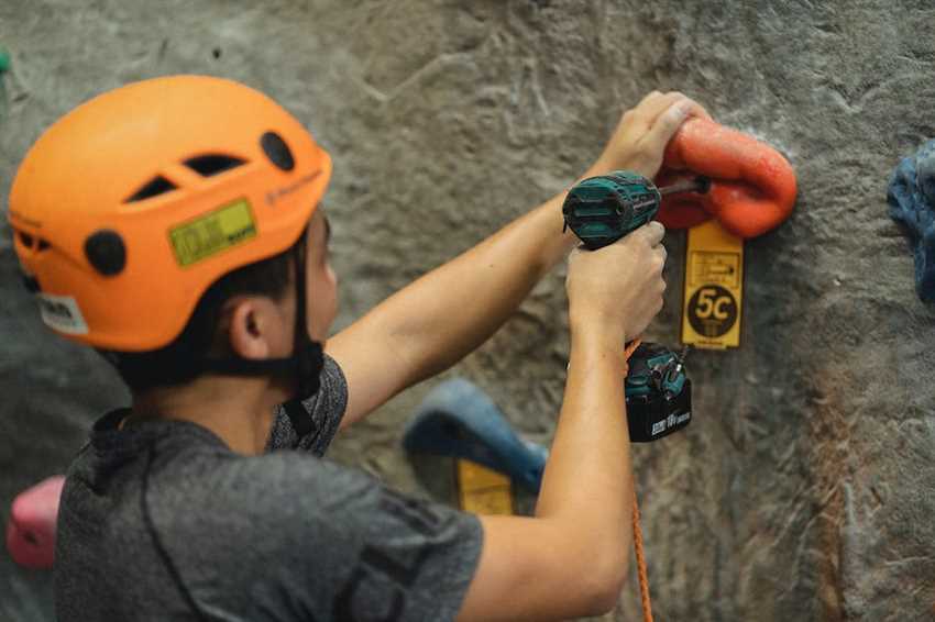
[[[623,342],[596,315],[572,330],[536,517],[481,517],[484,547],[459,620],[565,620],[617,601],[632,511]]]

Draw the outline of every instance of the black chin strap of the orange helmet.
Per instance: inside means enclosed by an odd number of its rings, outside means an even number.
[[[321,368],[324,366],[324,353],[321,344],[308,336],[306,322],[306,242],[305,233],[296,244],[296,325],[293,337],[293,354],[287,358],[206,358],[202,368],[206,371],[232,376],[286,376],[295,378],[296,390],[290,400],[283,404],[286,415],[299,436],[312,430],[311,415],[305,409],[302,400],[318,392]]]

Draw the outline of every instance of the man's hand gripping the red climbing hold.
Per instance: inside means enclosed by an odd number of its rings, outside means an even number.
[[[689,116],[711,119],[704,108],[678,91],[652,91],[624,113],[587,177],[632,170],[652,179],[662,166],[666,145]]]

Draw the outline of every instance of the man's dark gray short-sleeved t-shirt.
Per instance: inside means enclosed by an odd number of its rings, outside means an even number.
[[[346,406],[333,359],[305,404],[311,433],[277,412],[268,452],[250,457],[194,423],[101,418],[62,496],[58,619],[453,619],[477,519],[320,459]]]

